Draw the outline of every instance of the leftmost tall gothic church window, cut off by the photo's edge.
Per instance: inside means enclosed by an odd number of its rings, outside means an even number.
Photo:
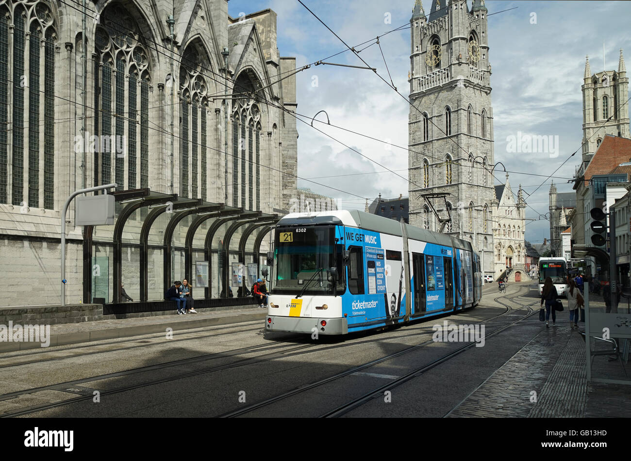
[[[0,203],[54,209],[56,20],[44,1],[13,4],[0,6]]]

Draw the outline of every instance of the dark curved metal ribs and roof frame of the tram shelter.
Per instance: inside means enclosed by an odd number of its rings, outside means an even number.
[[[150,189],[134,189],[134,190],[122,190],[112,192],[117,205],[117,211],[115,213],[115,223],[112,226],[104,226],[104,233],[98,233],[95,238],[95,226],[83,227],[83,301],[85,303],[91,303],[93,301],[93,254],[95,252],[96,245],[106,245],[106,247],[113,247],[112,259],[113,267],[112,272],[108,275],[105,271],[105,281],[107,277],[111,277],[107,284],[110,286],[110,293],[112,293],[112,303],[118,306],[112,306],[109,308],[112,312],[130,312],[131,308],[133,312],[141,312],[144,310],[160,310],[162,304],[149,301],[149,263],[150,263],[150,249],[162,250],[163,252],[163,285],[164,289],[168,289],[170,286],[170,275],[172,271],[172,253],[174,248],[182,250],[182,243],[184,243],[184,274],[187,278],[191,278],[194,273],[193,269],[193,256],[194,252],[201,252],[201,245],[198,243],[198,247],[194,248],[195,233],[200,226],[204,224],[208,219],[215,219],[215,221],[209,226],[204,238],[204,260],[208,261],[209,274],[212,265],[212,242],[216,233],[220,230],[221,226],[230,223],[225,236],[222,238],[220,247],[215,245],[215,252],[217,253],[218,261],[223,263],[223,270],[221,271],[221,277],[219,283],[216,284],[218,289],[226,291],[223,287],[230,286],[230,279],[228,278],[228,260],[230,257],[230,241],[235,232],[239,230],[241,226],[249,225],[243,236],[239,241],[239,261],[245,262],[245,246],[248,238],[261,226],[268,225],[270,223],[276,223],[278,221],[278,215],[263,214],[261,211],[244,211],[242,208],[228,207],[223,203],[204,202],[201,199],[187,199],[178,197],[177,194],[162,194],[159,192],[153,192]],[[121,207],[122,205],[122,207]],[[141,214],[139,219],[134,221],[133,229],[127,232],[124,231],[129,218],[134,216],[134,213],[139,209],[149,207],[149,213]],[[163,217],[163,214],[173,213],[169,218]],[[173,242],[175,231],[178,230],[178,226],[182,219],[186,216],[194,216],[192,222],[186,226],[186,242]],[[137,215],[136,215],[137,216]],[[163,238],[160,238],[158,242],[153,242],[151,245],[150,235],[153,235],[152,227],[155,227],[156,221],[160,219],[160,226],[164,226]],[[167,221],[168,219],[168,221]],[[159,231],[160,231],[159,230]],[[184,233],[184,228],[180,229],[180,238]],[[254,251],[258,254],[262,236],[269,232],[268,228],[259,231],[256,235]],[[138,238],[139,233],[139,238]],[[133,236],[127,236],[127,235]],[[101,237],[98,238],[98,235]],[[111,235],[111,237],[110,237]],[[112,240],[110,240],[110,238]],[[138,240],[136,240],[138,238]],[[96,242],[95,242],[96,240]],[[130,241],[131,240],[131,241]],[[136,243],[138,242],[138,243]],[[162,245],[160,245],[162,243]],[[139,301],[140,303],[121,303],[121,281],[122,281],[122,249],[123,247],[131,246],[133,248],[140,249],[139,259]],[[98,251],[98,250],[97,250]],[[233,250],[234,252],[235,250]],[[255,262],[257,257],[255,255]],[[126,271],[129,271],[129,267],[126,266]],[[156,269],[156,276],[160,277],[159,271]],[[98,274],[97,274],[98,275]],[[126,277],[129,273],[126,272]],[[103,277],[103,275],[101,275]],[[134,275],[135,277],[135,275]],[[103,286],[103,285],[101,285]],[[157,287],[156,287],[157,288]],[[155,289],[152,288],[153,292]],[[204,298],[211,298],[212,296],[212,284],[211,287],[206,288]],[[107,296],[107,291],[106,291]],[[155,295],[155,293],[153,293]],[[226,296],[227,293],[221,293],[221,296]],[[134,296],[135,297],[135,296]],[[107,298],[106,298],[107,299]],[[162,299],[161,299],[162,301]],[[227,301],[222,301],[227,302]],[[234,300],[233,302],[237,302]],[[133,307],[136,306],[136,307]]]

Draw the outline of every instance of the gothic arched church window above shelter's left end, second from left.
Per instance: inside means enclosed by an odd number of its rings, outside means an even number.
[[[100,159],[98,152],[94,154],[94,184],[112,182],[113,167],[118,189],[126,189],[124,172],[127,161],[127,187],[138,187],[136,165],[137,152],[140,151],[139,186],[149,187],[150,65],[138,23],[122,6],[110,5],[103,10],[95,33],[95,49],[95,131],[104,139],[107,136],[116,139],[116,144],[103,149]],[[126,102],[128,117],[124,110]],[[140,136],[135,122],[138,112]],[[126,133],[127,152],[121,155],[118,140]],[[114,159],[112,153],[116,154]]]

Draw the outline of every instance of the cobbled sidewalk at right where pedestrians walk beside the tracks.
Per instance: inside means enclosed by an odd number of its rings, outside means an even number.
[[[601,297],[591,300],[592,310],[604,308]],[[567,310],[559,314],[557,327],[542,323],[537,336],[447,417],[631,416],[631,385],[587,385],[585,342],[579,330],[570,330]],[[538,316],[528,321],[538,322]],[[619,362],[602,356],[594,365],[604,375],[620,372]]]

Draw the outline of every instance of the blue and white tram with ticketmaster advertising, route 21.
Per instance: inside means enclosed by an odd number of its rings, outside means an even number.
[[[288,214],[275,228],[266,331],[338,335],[474,307],[471,243],[361,211]]]

